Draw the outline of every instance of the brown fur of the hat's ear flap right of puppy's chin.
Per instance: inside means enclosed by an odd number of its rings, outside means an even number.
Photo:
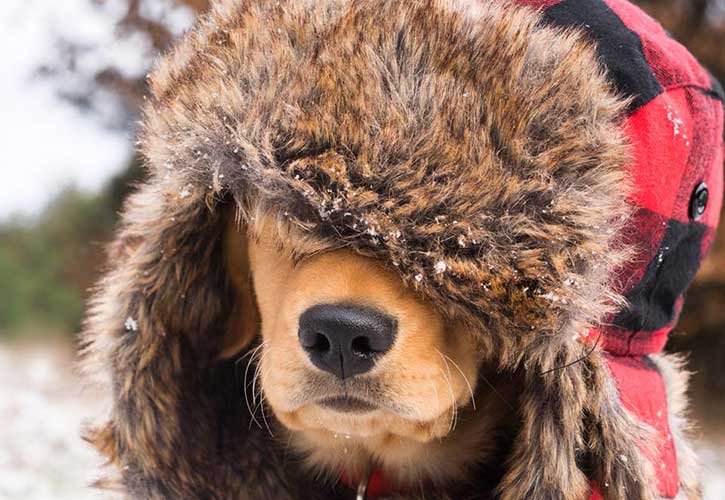
[[[659,498],[640,449],[647,428],[623,408],[602,353],[582,357],[581,347],[565,342],[531,356],[501,500],[596,498],[592,479],[606,500]]]

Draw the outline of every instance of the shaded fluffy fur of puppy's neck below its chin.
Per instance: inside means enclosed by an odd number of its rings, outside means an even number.
[[[371,474],[395,490],[465,483],[495,462],[507,431],[515,427],[513,384],[497,385],[491,390],[479,384],[475,408],[472,404],[461,408],[451,432],[442,439],[419,442],[386,433],[358,438],[288,431],[289,444],[304,457],[307,468],[329,482],[342,477],[351,487],[366,482]]]

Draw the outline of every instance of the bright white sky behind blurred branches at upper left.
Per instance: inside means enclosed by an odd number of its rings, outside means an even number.
[[[145,71],[151,54],[144,41],[113,39],[118,7],[0,0],[0,222],[37,214],[71,185],[97,190],[127,164],[133,148],[128,132],[82,113],[58,97],[52,79],[37,76],[39,66],[57,59],[60,38],[100,47],[80,61],[85,69],[110,62],[125,73]],[[189,22],[188,16],[176,19],[179,26]]]

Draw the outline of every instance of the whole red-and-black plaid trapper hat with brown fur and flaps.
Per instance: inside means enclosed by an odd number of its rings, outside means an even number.
[[[274,217],[297,257],[389,265],[487,361],[525,369],[502,498],[559,498],[585,468],[606,498],[653,498],[654,470],[675,496],[675,445],[643,459],[632,439],[637,418],[669,432],[635,356],[663,347],[712,241],[722,92],[649,17],[624,0],[219,0],[150,82],[149,178],[85,333],[114,401],[92,440],[125,492],[295,498],[218,361],[231,206],[251,233]]]

